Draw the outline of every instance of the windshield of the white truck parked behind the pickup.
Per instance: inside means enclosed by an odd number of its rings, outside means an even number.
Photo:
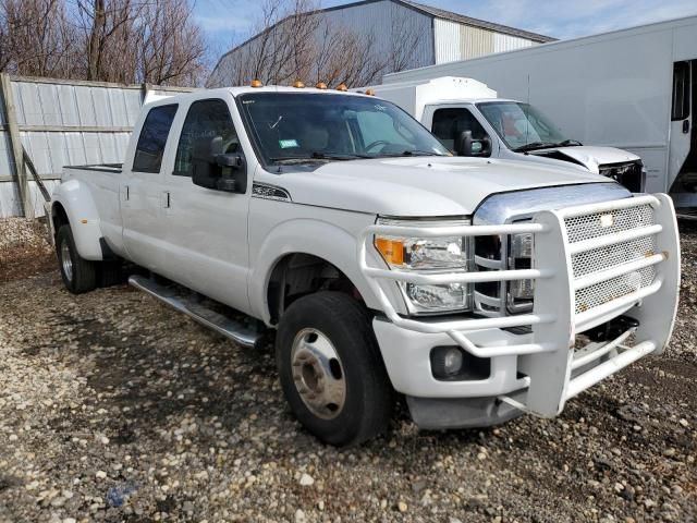
[[[477,104],[499,136],[513,150],[531,150],[554,145],[574,145],[529,104],[488,101]]]

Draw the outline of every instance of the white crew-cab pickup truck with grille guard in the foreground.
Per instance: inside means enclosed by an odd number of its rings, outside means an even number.
[[[333,445],[381,433],[396,393],[425,428],[554,416],[660,354],[677,304],[665,195],[453,157],[340,90],[149,104],[123,166],[66,167],[50,216],[71,292],[129,260],[150,275],[133,285],[241,345],[274,329],[291,409]]]

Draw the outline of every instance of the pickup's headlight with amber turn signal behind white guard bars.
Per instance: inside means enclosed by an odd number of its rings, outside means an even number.
[[[456,227],[469,221],[408,221],[378,219],[378,224],[403,227]],[[409,238],[376,236],[375,247],[393,269],[419,272],[465,272],[469,267],[467,240],[462,236]],[[417,285],[400,282],[402,293],[415,314],[466,311],[470,306],[472,285],[450,283]]]

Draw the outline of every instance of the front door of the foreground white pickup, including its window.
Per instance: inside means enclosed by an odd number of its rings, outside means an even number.
[[[247,194],[237,194],[192,182],[194,143],[221,136],[223,151],[235,153],[241,147],[239,126],[223,99],[191,104],[179,139],[173,141],[175,154],[168,155],[173,160],[164,175],[161,220],[168,251],[167,271],[191,289],[248,312],[247,212],[252,183],[247,184]],[[247,158],[252,157],[252,151],[245,153]]]

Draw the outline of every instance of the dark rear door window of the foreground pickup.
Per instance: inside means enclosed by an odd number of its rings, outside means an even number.
[[[138,172],[160,172],[167,136],[176,114],[176,104],[154,107],[145,117],[138,144],[135,148],[133,170]]]

